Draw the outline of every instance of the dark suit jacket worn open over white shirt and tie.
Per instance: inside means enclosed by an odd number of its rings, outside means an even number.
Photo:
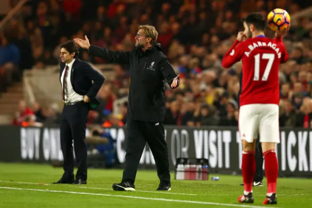
[[[59,82],[65,69],[66,63],[60,62]],[[90,98],[91,108],[95,108],[100,104],[96,98],[98,90],[104,83],[104,76],[101,75],[92,66],[76,58],[72,66],[70,81],[74,91],[79,95],[87,95]],[[93,83],[92,83],[93,81]]]

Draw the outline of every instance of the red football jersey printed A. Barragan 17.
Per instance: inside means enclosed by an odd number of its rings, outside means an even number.
[[[240,106],[245,104],[279,104],[279,63],[288,60],[281,37],[258,36],[244,42],[235,41],[224,55],[222,66],[231,67],[242,60]]]

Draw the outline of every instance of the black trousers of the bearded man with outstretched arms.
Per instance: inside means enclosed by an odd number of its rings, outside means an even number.
[[[146,142],[156,164],[160,183],[170,183],[169,155],[165,128],[161,123],[127,120],[126,161],[122,181],[135,183],[137,168]]]

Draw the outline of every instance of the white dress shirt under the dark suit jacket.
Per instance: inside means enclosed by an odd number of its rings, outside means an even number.
[[[74,102],[78,102],[78,101],[83,100],[83,95],[77,94],[73,89],[72,83],[70,82],[70,76],[72,73],[72,67],[73,67],[74,62],[75,62],[75,59],[70,63],[66,63],[65,68],[64,68],[62,75],[60,77],[60,81],[61,81],[62,89],[63,89],[64,73],[65,73],[66,66],[68,66],[68,70],[67,70],[67,74],[66,74],[66,90],[65,90],[65,92],[67,92],[67,93],[65,94],[65,101],[64,101],[65,103],[74,103]]]

